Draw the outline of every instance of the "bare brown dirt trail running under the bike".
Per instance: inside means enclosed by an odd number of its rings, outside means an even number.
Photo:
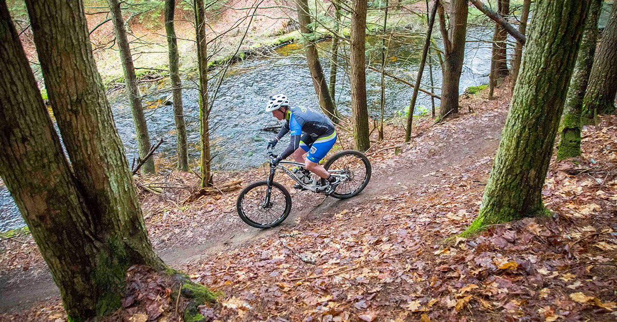
[[[321,196],[315,201],[313,196],[307,197],[312,192],[299,192],[292,196],[294,207],[289,218],[280,226],[267,230],[245,225],[235,213],[223,213],[217,218],[220,222],[215,221],[206,228],[209,229],[204,233],[207,242],[195,241],[184,247],[170,245],[159,250],[159,255],[168,265],[181,268],[209,254],[234,249],[244,243],[279,234],[281,230],[290,230],[298,221],[318,221],[352,205],[378,204],[381,196],[415,191],[438,183],[442,178],[440,175],[473,168],[478,160],[494,155],[506,114],[504,107],[482,110],[429,128],[412,140],[412,144],[404,147],[398,156],[373,163],[371,181],[357,197],[347,200],[326,198],[320,203]],[[310,200],[311,204],[304,205],[302,199]],[[230,217],[235,219],[230,220]],[[10,284],[16,286],[8,287],[9,279],[12,280]],[[0,282],[0,313],[27,308],[39,300],[59,298],[59,291],[46,266],[41,270],[25,271],[20,276],[0,276]]]

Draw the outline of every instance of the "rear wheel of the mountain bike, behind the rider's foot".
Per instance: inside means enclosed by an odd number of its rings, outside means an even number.
[[[330,196],[347,199],[356,196],[371,179],[371,163],[366,156],[355,150],[344,150],[334,154],[323,166],[328,172],[347,176]],[[326,184],[326,180],[322,180]]]

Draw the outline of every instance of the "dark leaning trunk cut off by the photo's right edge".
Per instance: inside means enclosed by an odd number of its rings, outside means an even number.
[[[607,27],[589,75],[582,101],[583,122],[593,123],[597,114],[615,113],[617,93],[617,6],[613,4]]]

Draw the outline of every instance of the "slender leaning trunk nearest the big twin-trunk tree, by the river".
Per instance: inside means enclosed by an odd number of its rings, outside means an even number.
[[[118,44],[118,51],[120,52],[120,60],[122,61],[126,94],[131,104],[133,123],[135,123],[135,135],[137,136],[139,157],[143,159],[148,151],[150,151],[150,136],[146,125],[146,116],[141,106],[141,94],[139,93],[137,76],[135,76],[135,66],[133,65],[131,48],[129,47],[128,38],[126,37],[120,2],[118,2],[118,0],[107,0],[107,3],[109,4],[109,9],[112,14],[112,22],[114,22],[115,38]],[[154,173],[154,160],[150,158],[141,168],[144,173]]]

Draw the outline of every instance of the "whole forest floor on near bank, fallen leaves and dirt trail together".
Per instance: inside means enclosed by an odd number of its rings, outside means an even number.
[[[478,214],[499,144],[510,96],[497,96],[467,97],[460,114],[436,125],[421,120],[409,144],[402,128],[387,128],[367,152],[373,176],[362,194],[290,191],[292,213],[276,228],[239,220],[238,192],[189,205],[185,189],[143,193],[152,244],[168,265],[224,294],[202,307],[213,320],[617,320],[617,117],[584,128],[582,157],[553,158],[542,192],[552,217],[457,237]],[[246,186],[266,174],[215,180]],[[153,180],[195,186],[197,178]],[[30,235],[0,243],[0,320],[65,320]]]

